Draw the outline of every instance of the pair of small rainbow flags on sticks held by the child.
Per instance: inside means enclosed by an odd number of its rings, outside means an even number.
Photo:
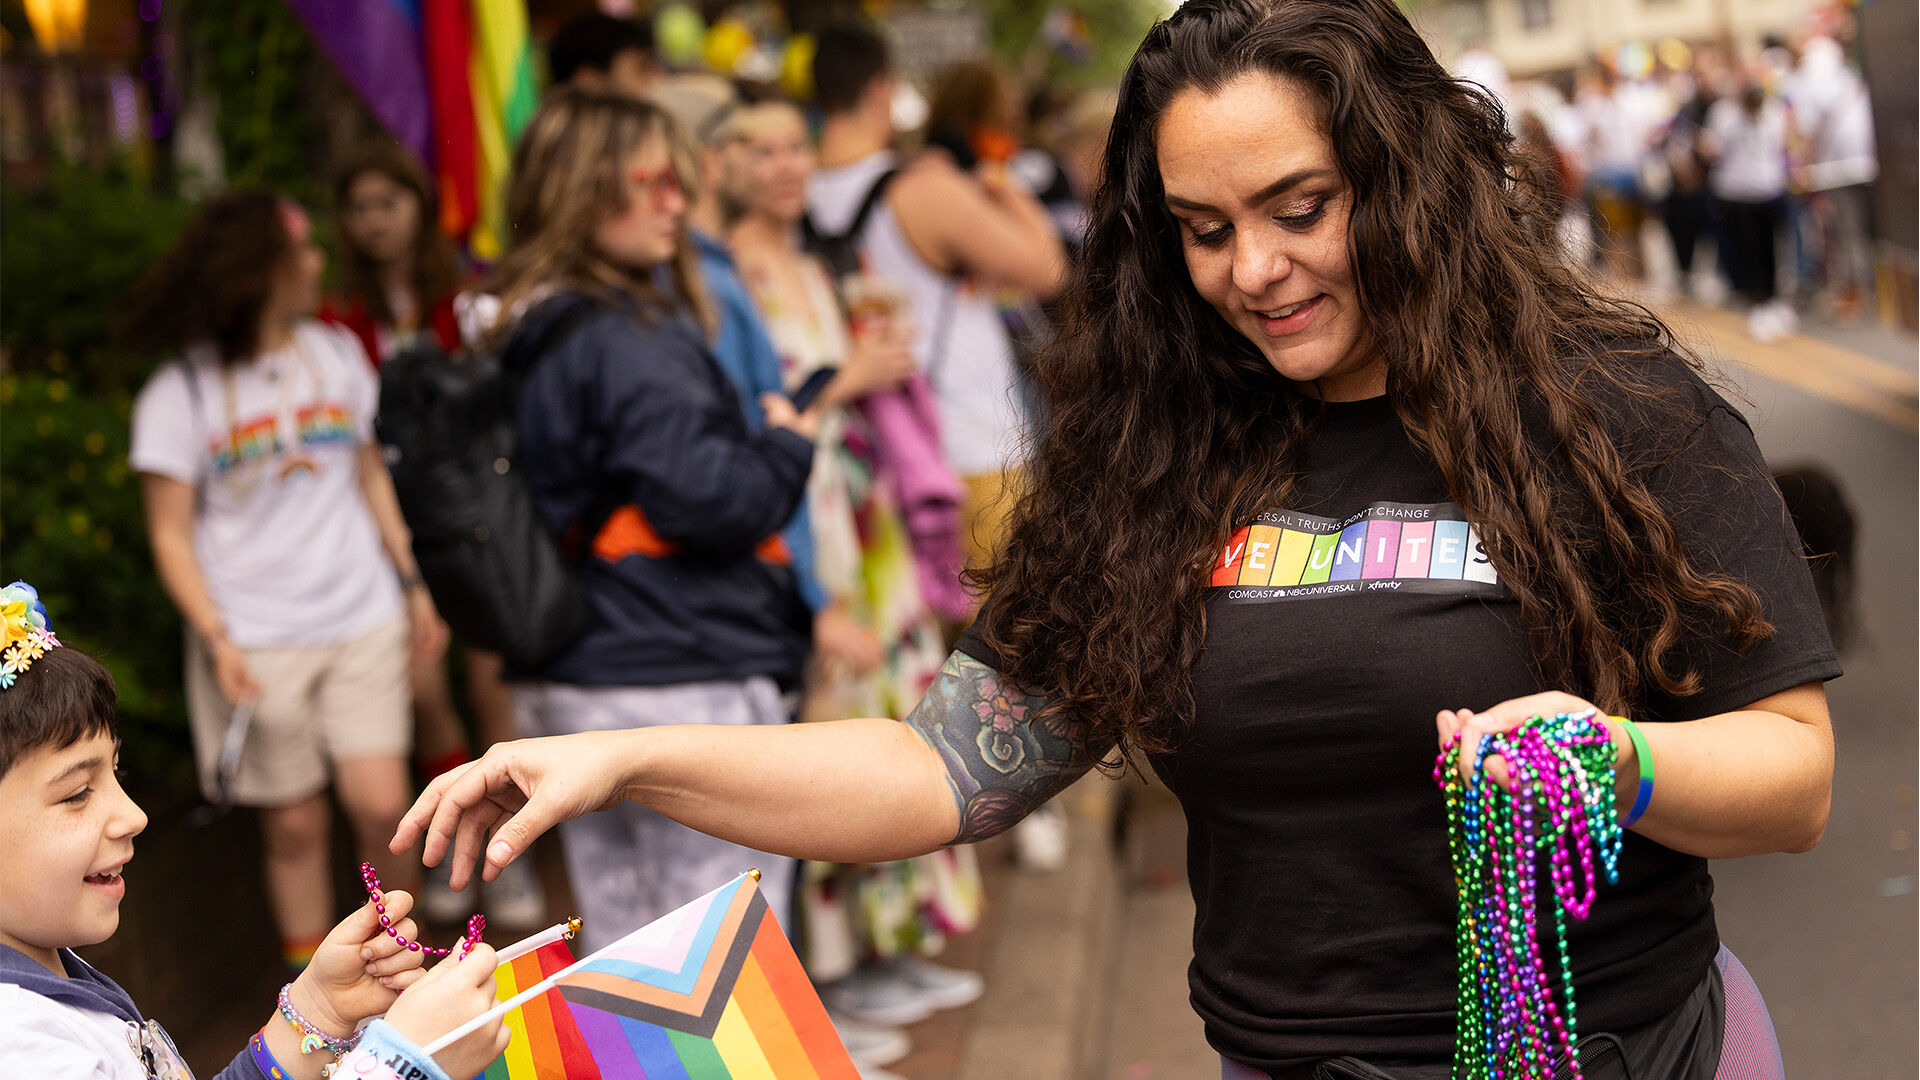
[[[484,1080],[858,1080],[756,880],[741,874],[568,963],[493,974],[513,1043]]]

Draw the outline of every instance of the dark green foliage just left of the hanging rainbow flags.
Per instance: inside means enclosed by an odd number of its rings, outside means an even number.
[[[213,127],[232,188],[263,186],[319,206],[307,108],[313,38],[284,0],[190,4],[188,35],[217,102]]]

